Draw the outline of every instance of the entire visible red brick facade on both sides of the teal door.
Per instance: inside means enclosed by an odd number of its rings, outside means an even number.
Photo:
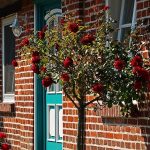
[[[94,23],[93,9],[100,10],[103,0],[63,0],[62,10],[73,12],[85,24]],[[19,15],[28,16],[28,25],[34,26],[34,7],[31,0],[23,0]],[[95,7],[97,6],[97,7]],[[150,17],[150,1],[137,0],[137,17]],[[2,19],[2,18],[1,18]],[[0,19],[0,21],[1,21]],[[25,24],[23,23],[25,26]],[[150,25],[150,20],[144,27]],[[1,31],[1,24],[0,24]],[[34,148],[34,76],[30,61],[18,57],[19,44],[25,36],[16,38],[16,58],[19,66],[15,70],[15,104],[0,104],[0,131],[7,133],[12,150],[32,150]],[[0,49],[2,34],[0,32]],[[143,48],[149,57],[149,48]],[[0,50],[1,56],[1,50]],[[1,64],[1,57],[0,57]],[[0,66],[0,100],[2,100],[2,67]],[[148,95],[149,99],[150,95]],[[90,97],[89,97],[90,99]],[[149,105],[147,106],[149,108]],[[149,111],[149,109],[148,109]],[[146,111],[146,112],[148,112]],[[86,149],[87,150],[149,150],[150,119],[148,113],[138,118],[120,117],[119,108],[104,108],[97,112],[86,111]],[[76,150],[77,110],[72,103],[63,99],[63,149]]]

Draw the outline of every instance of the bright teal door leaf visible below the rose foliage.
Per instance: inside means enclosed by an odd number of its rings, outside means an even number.
[[[46,93],[46,150],[62,150],[62,92],[54,84]]]

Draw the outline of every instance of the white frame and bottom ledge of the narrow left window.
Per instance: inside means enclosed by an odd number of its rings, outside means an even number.
[[[4,34],[4,28],[7,25],[11,25],[15,19],[15,15],[4,18],[2,20],[2,83],[3,83],[3,103],[14,103],[15,102],[15,93],[14,94],[6,94],[5,93],[5,73],[4,73],[4,39],[5,39],[5,34]]]

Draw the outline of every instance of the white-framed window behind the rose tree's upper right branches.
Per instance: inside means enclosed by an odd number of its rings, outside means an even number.
[[[110,6],[112,18],[118,21],[115,28],[119,30],[114,38],[121,41],[135,27],[136,0],[106,0],[106,5]]]

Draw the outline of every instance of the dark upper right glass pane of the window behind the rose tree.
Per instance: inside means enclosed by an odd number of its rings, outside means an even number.
[[[134,9],[134,0],[125,0],[122,24],[128,24],[132,22],[133,9]]]

